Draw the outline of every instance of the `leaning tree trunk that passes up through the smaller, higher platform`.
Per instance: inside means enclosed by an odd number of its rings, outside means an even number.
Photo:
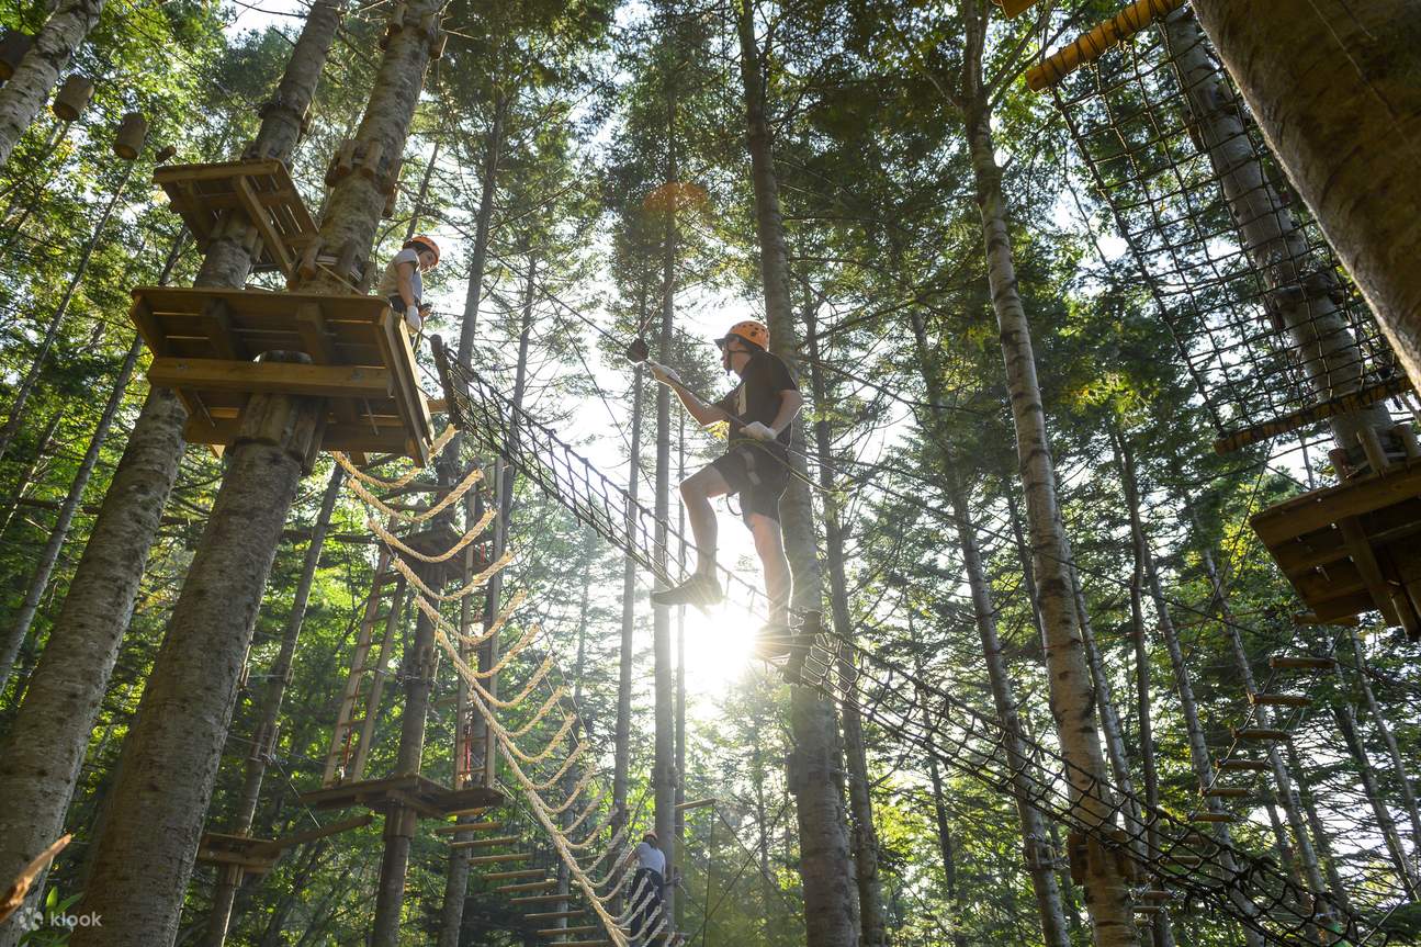
[[[259,154],[290,158],[340,20],[337,0],[317,0],[311,7],[273,100],[276,107],[263,112]],[[233,226],[223,230],[226,236],[209,245],[195,284],[246,283],[252,269],[252,226],[243,218],[229,225]],[[24,704],[0,741],[0,799],[7,801],[0,806],[0,877],[13,877],[60,835],[94,715],[178,476],[186,419],[172,391],[149,392],[50,631],[48,647],[30,678]],[[202,812],[196,815],[200,819]],[[11,947],[3,930],[0,947]]]

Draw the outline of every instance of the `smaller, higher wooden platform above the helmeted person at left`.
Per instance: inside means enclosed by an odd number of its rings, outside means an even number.
[[[206,252],[223,215],[240,210],[261,235],[257,270],[291,276],[301,250],[317,228],[286,165],[276,159],[227,161],[213,165],[168,165],[153,172],[153,183]]]

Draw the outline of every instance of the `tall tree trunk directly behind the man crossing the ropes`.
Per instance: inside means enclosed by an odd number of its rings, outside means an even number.
[[[760,243],[760,277],[764,283],[770,348],[793,370],[799,340],[790,309],[789,253],[780,216],[770,125],[764,111],[760,50],[755,38],[755,4],[749,0],[736,3],[736,33],[740,43],[740,80],[745,87],[755,223]],[[799,424],[791,435],[790,458],[791,468],[803,475],[804,434]],[[813,631],[823,611],[823,586],[814,547],[814,509],[809,486],[797,476],[790,478],[780,502],[780,522],[784,552],[794,576],[793,606],[809,617],[809,630]],[[857,941],[858,931],[853,913],[853,874],[848,866],[843,798],[831,775],[837,756],[833,704],[811,688],[791,687],[790,728],[797,744],[796,765],[790,766],[790,788],[797,803],[809,947],[850,947]]]

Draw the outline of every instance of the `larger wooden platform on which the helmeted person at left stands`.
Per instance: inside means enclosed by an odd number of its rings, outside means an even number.
[[[148,380],[188,408],[193,444],[230,445],[257,392],[324,397],[321,446],[429,459],[432,419],[404,321],[371,296],[139,287],[129,317],[153,353]],[[310,364],[254,361],[297,351]]]

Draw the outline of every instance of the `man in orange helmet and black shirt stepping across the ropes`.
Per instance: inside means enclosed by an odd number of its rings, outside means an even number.
[[[681,404],[702,427],[720,421],[730,425],[723,456],[686,478],[681,501],[696,543],[696,570],[679,586],[651,596],[661,606],[709,607],[723,597],[716,579],[716,520],[710,499],[739,496],[740,516],[755,537],[755,552],[764,574],[769,621],[756,640],[760,657],[779,657],[790,650],[790,563],[780,530],[780,495],[789,485],[789,445],[796,415],[804,407],[794,375],[769,351],[770,333],[763,323],[736,323],[718,338],[720,364],[740,384],[715,404],[706,404],[681,384],[676,373],[649,361],[652,377],[669,385]]]

